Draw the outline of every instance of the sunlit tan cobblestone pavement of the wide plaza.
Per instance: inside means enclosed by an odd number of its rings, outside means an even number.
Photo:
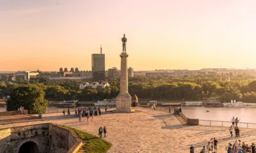
[[[99,117],[90,118],[87,124],[85,117],[82,122],[74,117],[62,117],[61,113],[44,114],[45,121],[12,124],[24,126],[43,122],[53,122],[98,135],[100,126],[108,129],[105,138],[113,144],[109,152],[175,152],[187,153],[191,144],[195,152],[200,152],[207,145],[209,138],[219,141],[218,152],[223,153],[228,142],[234,142],[228,128],[212,126],[184,126],[173,115],[166,112],[136,108],[136,113],[103,113]],[[3,128],[10,126],[5,125]],[[2,128],[2,127],[1,127]],[[242,142],[250,145],[256,142],[256,129],[241,129]]]

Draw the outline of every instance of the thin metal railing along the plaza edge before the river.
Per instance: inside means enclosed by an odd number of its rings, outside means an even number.
[[[220,121],[220,120],[199,120],[200,126],[227,126],[230,127],[232,122]],[[239,128],[256,129],[256,123],[239,122],[237,124]]]

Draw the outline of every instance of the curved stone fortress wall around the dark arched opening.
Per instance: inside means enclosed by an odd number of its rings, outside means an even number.
[[[54,124],[35,124],[0,129],[0,152],[18,153],[26,142],[33,142],[38,153],[76,152],[81,139],[72,130]]]

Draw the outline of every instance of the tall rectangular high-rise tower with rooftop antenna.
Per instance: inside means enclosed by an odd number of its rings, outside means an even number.
[[[92,75],[93,78],[105,78],[105,54],[102,54],[102,47],[100,47],[100,54],[92,54]]]

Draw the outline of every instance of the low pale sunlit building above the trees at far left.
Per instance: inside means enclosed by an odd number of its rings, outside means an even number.
[[[36,78],[39,75],[38,72],[30,72],[30,71],[17,71],[13,74],[14,81],[24,81],[30,80],[31,78]]]

